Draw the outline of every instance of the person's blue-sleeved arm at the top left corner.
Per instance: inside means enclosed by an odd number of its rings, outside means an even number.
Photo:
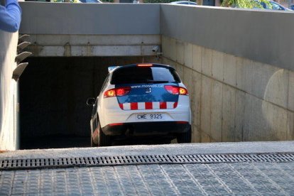
[[[21,24],[21,7],[17,0],[6,0],[6,6],[0,6],[0,30],[16,32]]]

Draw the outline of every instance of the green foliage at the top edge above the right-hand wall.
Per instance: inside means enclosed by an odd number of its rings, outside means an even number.
[[[268,7],[271,7],[271,4],[267,0],[223,0],[222,6],[224,7],[236,7],[236,8],[244,8],[244,9],[263,9],[261,2],[266,4]]]

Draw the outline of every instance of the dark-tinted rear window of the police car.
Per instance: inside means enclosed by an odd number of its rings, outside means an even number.
[[[138,83],[180,82],[180,77],[173,69],[165,67],[126,67],[114,71],[111,85]]]

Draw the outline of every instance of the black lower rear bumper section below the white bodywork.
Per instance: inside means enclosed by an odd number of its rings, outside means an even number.
[[[185,133],[189,129],[187,121],[157,121],[109,124],[102,131],[108,136],[156,136]]]

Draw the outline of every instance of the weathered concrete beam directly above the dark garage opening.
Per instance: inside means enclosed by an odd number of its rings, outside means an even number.
[[[32,35],[28,50],[35,57],[152,56],[159,35]]]

